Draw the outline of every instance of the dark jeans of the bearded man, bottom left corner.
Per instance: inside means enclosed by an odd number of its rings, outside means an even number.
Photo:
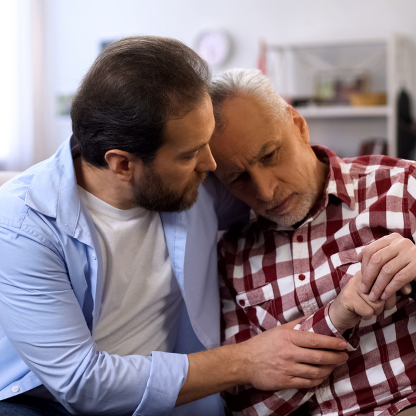
[[[70,416],[57,401],[19,394],[0,401],[0,416]]]

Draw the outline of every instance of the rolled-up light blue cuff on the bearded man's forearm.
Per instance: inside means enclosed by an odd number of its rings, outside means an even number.
[[[175,407],[185,383],[189,361],[186,354],[151,353],[152,364],[143,398],[133,416],[162,416]]]

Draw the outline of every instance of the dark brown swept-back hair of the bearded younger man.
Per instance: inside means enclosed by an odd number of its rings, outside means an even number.
[[[72,102],[72,131],[82,158],[106,166],[106,152],[120,149],[151,162],[168,118],[196,108],[210,79],[205,61],[175,39],[136,36],[111,43]]]

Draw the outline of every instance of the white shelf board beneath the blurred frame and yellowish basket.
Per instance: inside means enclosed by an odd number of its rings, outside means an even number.
[[[352,106],[310,106],[296,107],[296,110],[305,119],[330,119],[330,118],[373,118],[388,117],[393,110],[388,106],[352,107]]]

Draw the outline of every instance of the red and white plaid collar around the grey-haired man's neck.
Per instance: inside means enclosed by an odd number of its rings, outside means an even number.
[[[330,196],[340,199],[346,203],[350,209],[355,205],[355,193],[353,179],[350,174],[351,159],[341,159],[334,152],[324,146],[311,146],[318,159],[322,162],[329,163],[329,173],[327,183],[325,186],[324,196],[321,204],[313,212],[309,213],[306,219],[302,222],[305,224],[322,213],[328,205]],[[263,231],[274,229],[278,231],[292,231],[293,227],[279,226],[272,221],[256,215],[253,211],[250,214],[250,224],[256,223]]]

